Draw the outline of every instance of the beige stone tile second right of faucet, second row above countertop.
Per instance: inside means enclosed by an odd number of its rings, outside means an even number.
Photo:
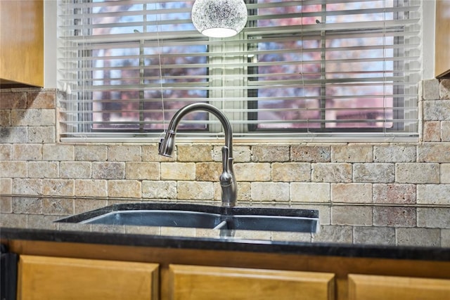
[[[274,162],[271,171],[272,181],[311,181],[311,164],[309,162]]]

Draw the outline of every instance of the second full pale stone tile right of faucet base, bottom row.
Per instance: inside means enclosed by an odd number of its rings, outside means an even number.
[[[292,202],[330,202],[330,183],[290,183]]]

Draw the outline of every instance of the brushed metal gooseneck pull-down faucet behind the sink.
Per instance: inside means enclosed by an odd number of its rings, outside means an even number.
[[[237,194],[236,178],[233,172],[233,133],[229,119],[216,107],[207,103],[193,103],[181,107],[174,117],[172,117],[172,120],[170,120],[165,138],[162,138],[160,141],[159,154],[169,157],[172,156],[175,147],[176,127],[186,114],[195,110],[205,110],[206,112],[212,113],[224,127],[225,145],[222,148],[222,174],[219,176],[219,182],[222,188],[222,205],[224,207],[233,207],[236,204]]]

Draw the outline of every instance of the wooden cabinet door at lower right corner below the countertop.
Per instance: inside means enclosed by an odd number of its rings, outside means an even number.
[[[349,275],[349,300],[450,299],[450,280]]]

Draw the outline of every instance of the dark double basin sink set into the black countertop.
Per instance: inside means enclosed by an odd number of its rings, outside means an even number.
[[[152,202],[114,204],[57,222],[316,233],[319,211]]]

